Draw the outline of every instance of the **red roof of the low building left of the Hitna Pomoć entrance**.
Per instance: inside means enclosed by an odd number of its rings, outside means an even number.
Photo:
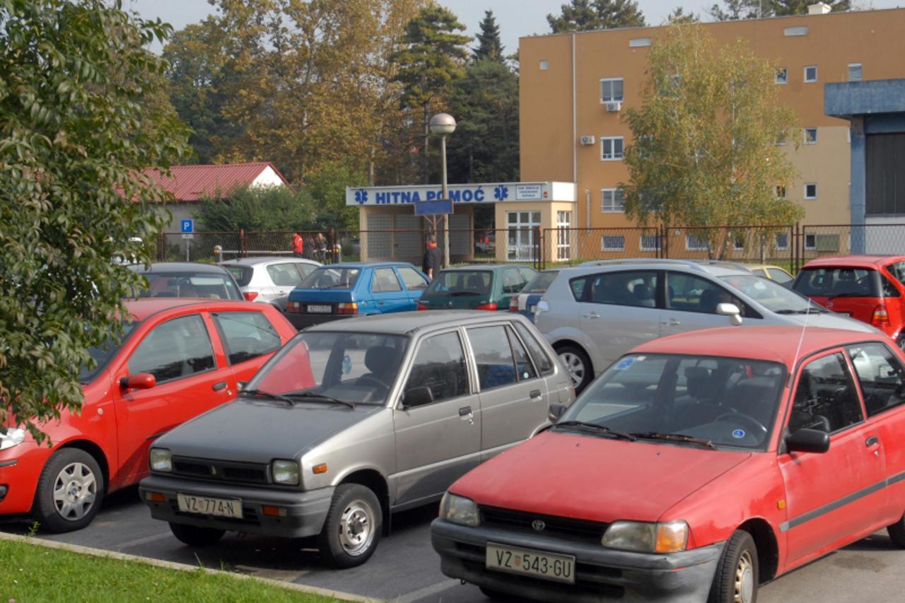
[[[227,194],[236,187],[247,187],[266,168],[272,168],[289,186],[289,181],[269,161],[221,166],[174,166],[170,168],[172,177],[164,177],[154,168],[146,169],[145,174],[172,193],[176,201],[191,202],[199,201],[203,196],[214,196],[218,191]]]

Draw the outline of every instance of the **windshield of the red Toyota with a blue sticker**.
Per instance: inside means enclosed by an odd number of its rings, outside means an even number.
[[[785,378],[782,365],[764,360],[629,354],[582,392],[555,429],[763,450]]]

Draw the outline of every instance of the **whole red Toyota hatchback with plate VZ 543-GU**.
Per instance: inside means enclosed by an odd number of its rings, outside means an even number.
[[[905,355],[880,333],[653,340],[453,483],[433,548],[491,598],[753,603],[881,528],[905,548],[902,433]]]

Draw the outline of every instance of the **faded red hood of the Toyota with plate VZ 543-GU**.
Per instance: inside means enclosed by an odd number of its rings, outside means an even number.
[[[750,456],[548,431],[481,464],[450,492],[481,505],[590,522],[655,522]]]

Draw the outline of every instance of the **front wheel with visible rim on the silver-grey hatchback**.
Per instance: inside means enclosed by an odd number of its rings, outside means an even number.
[[[380,501],[369,488],[358,483],[338,486],[318,536],[321,559],[341,569],[370,559],[380,541],[382,518]]]

